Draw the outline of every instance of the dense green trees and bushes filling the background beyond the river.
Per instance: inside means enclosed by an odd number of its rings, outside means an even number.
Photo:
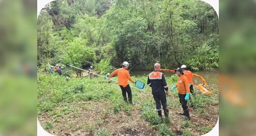
[[[143,70],[157,61],[168,69],[213,70],[218,53],[218,17],[202,1],[62,0],[38,17],[38,66],[97,66],[104,59]]]

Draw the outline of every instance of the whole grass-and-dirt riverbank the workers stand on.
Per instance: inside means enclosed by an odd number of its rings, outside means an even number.
[[[131,77],[146,83],[146,77]],[[116,77],[112,78],[117,80]],[[167,77],[168,86],[172,86]],[[218,119],[218,85],[209,85],[213,95],[202,95],[195,89],[192,96],[190,122],[178,115],[182,108],[177,90],[167,97],[170,122],[161,123],[157,117],[151,88],[142,95],[132,89],[131,106],[123,102],[116,82],[104,78],[71,78],[38,74],[38,119],[53,135],[202,135],[209,132]],[[132,85],[132,84],[131,84]],[[132,85],[134,86],[134,85]]]

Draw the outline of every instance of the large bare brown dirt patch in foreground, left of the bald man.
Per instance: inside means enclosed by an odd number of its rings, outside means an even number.
[[[63,117],[59,117],[59,122],[54,123],[53,129],[48,129],[47,132],[57,136],[94,136],[90,132],[89,127],[92,126],[94,130],[105,128],[110,135],[116,136],[155,136],[155,130],[152,130],[148,123],[140,118],[139,106],[134,106],[132,116],[120,111],[118,114],[106,115],[105,111],[108,102],[86,102],[79,103],[81,107],[77,112],[72,112]],[[86,104],[88,108],[83,108]],[[97,106],[95,106],[97,105]],[[56,111],[57,112],[57,111]],[[100,117],[100,115],[102,115]],[[45,114],[38,117],[40,124],[55,120],[54,116]],[[97,124],[101,120],[102,124]],[[87,127],[87,128],[83,128]],[[85,130],[83,130],[85,129]]]

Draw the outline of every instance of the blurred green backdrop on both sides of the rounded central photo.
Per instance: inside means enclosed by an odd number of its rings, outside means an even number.
[[[256,135],[256,1],[219,1],[219,134]],[[37,135],[37,1],[0,0],[0,135]]]

